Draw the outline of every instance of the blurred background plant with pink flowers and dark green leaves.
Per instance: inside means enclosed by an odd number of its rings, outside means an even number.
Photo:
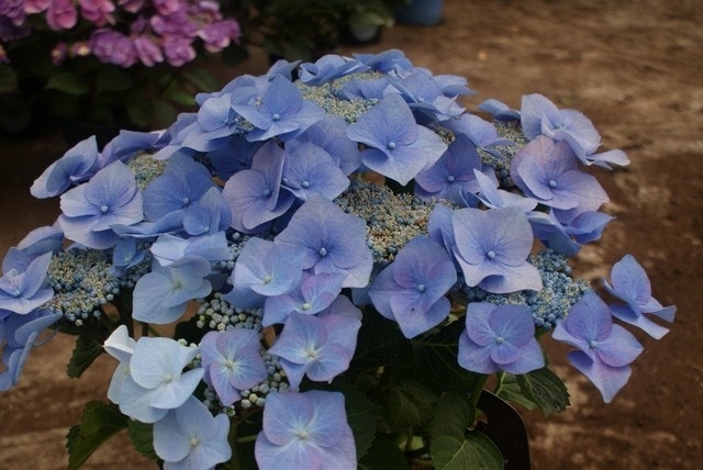
[[[242,49],[215,1],[0,1],[0,130],[51,130],[52,118],[159,128],[217,87],[208,59]],[[242,56],[242,54],[231,54]]]

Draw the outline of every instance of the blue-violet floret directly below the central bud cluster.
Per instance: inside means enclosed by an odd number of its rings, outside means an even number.
[[[376,310],[394,320],[406,338],[437,326],[449,315],[445,296],[457,281],[454,262],[437,242],[411,239],[373,279],[368,295]]]

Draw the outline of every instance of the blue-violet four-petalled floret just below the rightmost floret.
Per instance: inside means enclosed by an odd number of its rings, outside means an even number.
[[[643,351],[632,333],[613,324],[607,305],[593,291],[573,304],[551,337],[578,348],[567,357],[593,382],[605,403],[627,383],[632,373],[628,365]]]

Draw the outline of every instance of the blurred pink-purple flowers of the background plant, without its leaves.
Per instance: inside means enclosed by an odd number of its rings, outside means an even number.
[[[0,61],[3,46],[31,34],[56,34],[55,65],[92,55],[127,68],[157,63],[180,67],[196,58],[201,41],[219,52],[241,35],[216,1],[207,0],[0,0]],[[71,41],[58,41],[70,37]]]

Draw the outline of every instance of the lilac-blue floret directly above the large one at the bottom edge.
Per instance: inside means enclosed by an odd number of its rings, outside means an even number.
[[[348,369],[360,327],[360,313],[315,316],[292,312],[269,352],[280,358],[293,389],[300,387],[304,376],[317,382],[332,382]]]

